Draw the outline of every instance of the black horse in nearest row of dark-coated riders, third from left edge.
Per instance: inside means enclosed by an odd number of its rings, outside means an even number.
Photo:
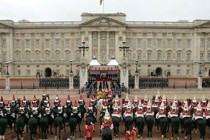
[[[30,139],[36,139],[37,135],[37,127],[38,127],[38,119],[36,116],[32,116],[28,121],[28,126],[30,130]]]

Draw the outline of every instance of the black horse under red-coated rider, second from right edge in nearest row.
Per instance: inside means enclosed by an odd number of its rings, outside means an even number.
[[[200,132],[200,140],[204,140],[205,134],[206,134],[206,120],[204,120],[203,118],[200,118],[200,119],[197,119],[195,122]]]

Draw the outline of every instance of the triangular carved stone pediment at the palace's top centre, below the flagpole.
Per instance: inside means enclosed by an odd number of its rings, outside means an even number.
[[[80,26],[126,26],[124,22],[109,18],[109,17],[98,17],[89,21],[86,21]]]

